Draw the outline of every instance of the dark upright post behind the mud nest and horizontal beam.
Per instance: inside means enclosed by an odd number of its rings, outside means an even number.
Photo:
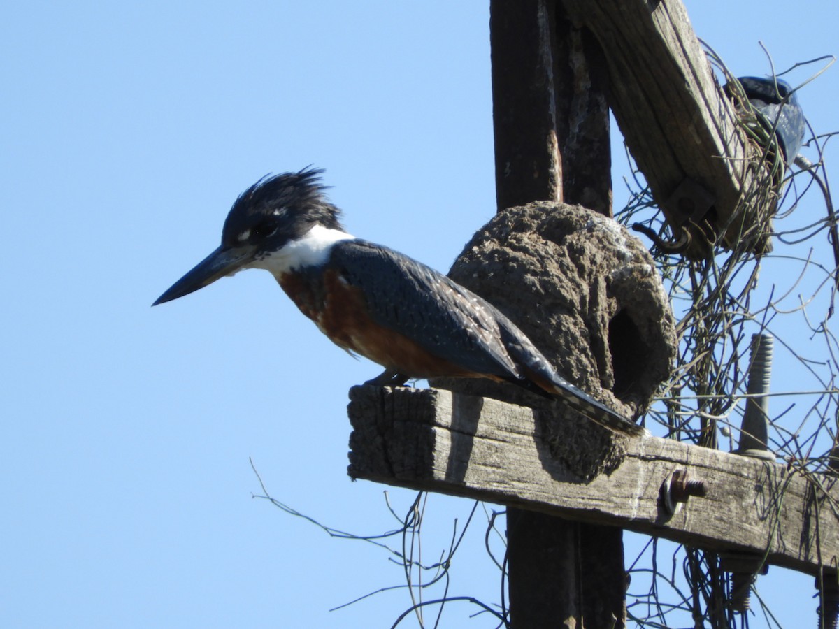
[[[498,210],[534,200],[612,213],[609,112],[593,38],[550,0],[490,3]],[[623,531],[509,507],[513,627],[626,621]]]

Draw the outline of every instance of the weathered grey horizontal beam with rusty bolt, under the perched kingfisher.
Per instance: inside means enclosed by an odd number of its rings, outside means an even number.
[[[568,430],[548,411],[439,389],[353,387],[350,399],[353,478],[765,553],[809,574],[839,559],[831,476],[655,437],[591,451],[579,444],[602,430],[593,424]],[[706,496],[671,515],[661,487],[675,470],[704,481]]]

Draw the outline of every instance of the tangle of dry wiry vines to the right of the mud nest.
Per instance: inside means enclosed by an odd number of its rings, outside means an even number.
[[[734,77],[712,51],[709,57],[724,80],[732,81]],[[731,251],[713,240],[706,243],[708,254],[701,260],[654,250],[679,321],[680,352],[648,419],[664,427],[671,439],[737,450],[752,337],[772,335],[773,370],[784,378],[770,392],[769,449],[786,461],[790,471],[817,487],[821,481],[816,473],[836,470],[831,455],[836,453],[839,412],[839,345],[830,326],[839,243],[823,160],[826,143],[834,134],[811,132],[807,146],[817,155],[815,164],[799,159],[799,168],[786,169],[773,134],[758,122],[759,114],[742,93],[735,90],[735,97],[743,112],[743,129],[759,150],[757,159],[743,164],[752,175],[752,185],[744,190],[734,216],[756,219],[743,228]],[[806,215],[795,212],[814,183],[824,197],[821,207],[826,206],[821,218],[810,209],[820,206],[817,195],[807,196],[811,201],[815,197],[815,202],[808,204]],[[640,222],[663,240],[671,238],[670,227],[642,176],[635,173],[629,187],[631,199],[616,218],[624,224]],[[774,251],[761,252],[756,246],[763,234],[771,234]],[[629,616],[638,626],[683,626],[685,618],[694,626],[715,629],[748,626],[754,616],[732,608],[731,574],[718,554],[669,548],[664,551],[670,554],[665,569],[659,569],[660,548],[655,541],[633,564],[644,566],[633,567],[632,572],[649,585],[644,594],[629,593]],[[763,626],[780,626],[759,596],[758,604]]]

